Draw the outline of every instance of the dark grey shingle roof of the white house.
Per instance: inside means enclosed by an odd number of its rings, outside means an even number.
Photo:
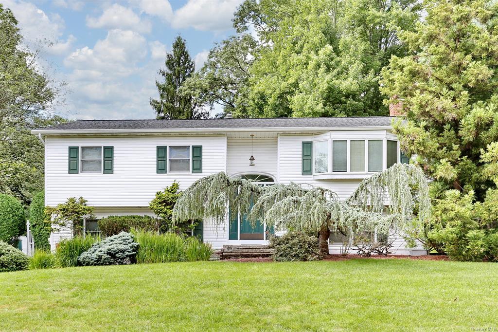
[[[77,120],[40,130],[348,128],[390,126],[393,117],[258,118],[203,120]]]

